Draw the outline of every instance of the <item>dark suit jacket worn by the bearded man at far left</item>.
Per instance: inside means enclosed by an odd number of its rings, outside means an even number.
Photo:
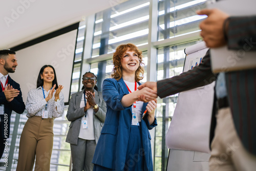
[[[18,113],[18,114],[22,114],[25,110],[25,104],[23,102],[23,98],[22,98],[22,91],[20,91],[19,88],[19,84],[17,82],[15,82],[9,75],[8,78],[8,84],[10,84],[10,86],[12,86],[14,89],[19,90],[19,95],[17,97],[14,97],[14,99],[11,102],[8,102],[6,100],[5,97],[5,93],[2,90],[2,87],[0,88],[0,104],[4,104],[5,105],[5,114],[7,114],[8,116],[8,135],[4,135],[4,124],[5,124],[5,118],[4,115],[0,115],[1,116],[1,136],[3,139],[9,138],[10,135],[10,122],[11,122],[11,113],[12,111]]]

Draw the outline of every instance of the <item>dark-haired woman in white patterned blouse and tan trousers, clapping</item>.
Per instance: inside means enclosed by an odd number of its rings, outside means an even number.
[[[36,87],[28,93],[29,119],[20,137],[16,170],[32,170],[34,161],[35,170],[50,170],[53,120],[64,111],[63,86],[58,86],[54,68],[45,65],[39,72]]]

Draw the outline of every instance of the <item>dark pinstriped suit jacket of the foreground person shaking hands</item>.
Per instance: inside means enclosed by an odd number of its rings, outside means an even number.
[[[250,27],[248,27],[250,26]],[[246,53],[256,50],[256,17],[230,17],[228,48]],[[238,61],[239,62],[239,61]],[[157,82],[157,92],[163,98],[179,92],[204,86],[216,80],[211,72],[209,51],[202,63],[178,76]],[[256,155],[256,69],[226,73],[228,102],[233,122],[240,139],[249,152]],[[215,128],[215,112],[212,113],[210,137]]]

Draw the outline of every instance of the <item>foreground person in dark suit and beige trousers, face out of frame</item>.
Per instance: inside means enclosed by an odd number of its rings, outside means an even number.
[[[198,14],[208,17],[200,24],[209,48],[227,45],[232,50],[256,50],[256,16],[229,17],[218,9]],[[244,50],[245,51],[245,50]],[[237,61],[239,62],[239,61]],[[163,98],[204,86],[216,80],[217,112],[212,113],[210,170],[254,170],[256,168],[256,69],[215,75],[209,51],[199,66],[178,76],[146,82]],[[213,139],[212,139],[213,138]]]

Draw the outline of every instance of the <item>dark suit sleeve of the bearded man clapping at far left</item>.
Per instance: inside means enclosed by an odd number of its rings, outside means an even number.
[[[22,91],[20,90],[19,84],[16,85],[15,89],[19,90],[19,94],[17,97],[14,97],[11,102],[8,102],[8,105],[14,112],[22,114],[25,110],[25,103],[23,102]]]

